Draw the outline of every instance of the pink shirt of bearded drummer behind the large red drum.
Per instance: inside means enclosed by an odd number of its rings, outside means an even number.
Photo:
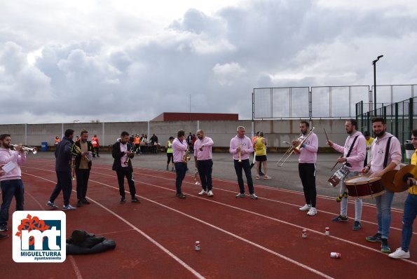
[[[397,137],[393,137],[389,132],[385,132],[385,135],[381,139],[378,137],[372,142],[371,145],[371,169],[369,173],[381,172],[383,170],[383,161],[385,160],[385,149],[388,144],[388,137],[391,138],[390,143],[390,155],[388,156],[387,165],[390,165],[391,162],[397,164],[395,170],[399,170],[399,163],[401,163],[402,153],[401,153],[401,144]]]

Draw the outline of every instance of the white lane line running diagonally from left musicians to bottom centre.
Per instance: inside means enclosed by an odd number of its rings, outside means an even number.
[[[31,175],[27,172],[25,172],[26,175]],[[53,182],[52,180],[43,178],[43,177],[39,177],[37,175],[31,175],[32,177],[37,177],[43,180],[46,180],[48,182]],[[91,181],[91,180],[90,180]],[[56,182],[53,182],[56,183]],[[72,190],[73,192],[76,192],[74,190]],[[116,212],[110,210],[109,208],[105,207],[104,205],[102,205],[101,203],[98,203],[97,201],[93,200],[93,198],[91,198],[90,196],[88,196],[88,199],[90,201],[93,201],[93,203],[95,203],[96,205],[102,207],[104,210],[106,210],[107,212],[109,212],[111,215],[114,215],[114,217],[120,219],[122,222],[124,222],[125,224],[128,224],[128,226],[130,226],[133,230],[137,231],[138,233],[140,233],[142,236],[144,236],[144,238],[146,238],[147,240],[149,240],[151,243],[153,243],[153,245],[156,245],[156,247],[158,247],[160,250],[163,250],[163,252],[165,252],[166,254],[168,254],[170,257],[172,257],[172,259],[175,259],[175,261],[177,261],[179,264],[181,264],[184,268],[186,268],[188,271],[190,271],[191,273],[193,273],[193,275],[196,276],[196,278],[205,278],[203,275],[201,275],[200,273],[198,273],[195,269],[191,268],[191,266],[189,266],[188,264],[186,264],[184,261],[182,261],[182,259],[179,259],[179,257],[175,256],[175,254],[173,254],[172,252],[170,252],[170,250],[166,249],[165,247],[163,247],[163,245],[160,245],[156,240],[154,240],[153,238],[151,238],[150,236],[148,236],[146,233],[144,233],[143,231],[141,231],[140,229],[138,229],[135,225],[133,225],[132,223],[128,222],[128,220],[124,219],[123,217],[121,217],[120,215],[118,215]],[[71,259],[71,258],[70,258]],[[74,261],[75,264],[75,260],[72,259],[72,261]],[[72,264],[71,261],[71,264]],[[74,266],[73,264],[73,266]],[[74,266],[74,269],[76,269],[76,274],[77,274],[77,270],[78,268],[76,268],[76,264]],[[79,270],[78,270],[79,273]]]

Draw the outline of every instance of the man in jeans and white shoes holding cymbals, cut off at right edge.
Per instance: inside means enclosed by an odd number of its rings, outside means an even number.
[[[411,133],[411,143],[416,149],[411,156],[411,165],[417,165],[417,130]],[[411,236],[413,236],[413,222],[417,216],[417,177],[409,178],[409,194],[404,203],[404,213],[402,215],[402,237],[401,247],[395,252],[388,254],[393,259],[409,259]]]

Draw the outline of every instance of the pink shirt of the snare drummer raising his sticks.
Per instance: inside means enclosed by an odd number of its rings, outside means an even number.
[[[348,163],[352,165],[352,167],[346,166],[348,170],[351,172],[358,172],[362,170],[364,167],[364,161],[365,161],[365,152],[367,149],[367,140],[365,140],[365,137],[362,135],[362,132],[355,132],[355,134],[350,135],[345,142],[345,146],[341,147],[339,144],[333,144],[331,147],[333,147],[334,150],[339,151],[340,153],[343,153],[343,157],[346,158],[348,155],[350,146],[352,146],[353,141],[355,140],[355,137],[357,136],[355,145],[353,146],[352,152],[350,152],[350,155],[348,157]]]

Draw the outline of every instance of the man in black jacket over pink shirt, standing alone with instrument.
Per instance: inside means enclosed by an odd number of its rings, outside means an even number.
[[[125,203],[125,177],[128,179],[130,196],[132,196],[132,203],[140,203],[139,199],[136,198],[135,180],[133,179],[133,168],[132,160],[135,156],[133,152],[132,144],[128,142],[129,133],[122,132],[120,139],[113,144],[111,156],[114,158],[112,170],[116,170],[118,180],[118,190],[121,195],[120,203]]]

